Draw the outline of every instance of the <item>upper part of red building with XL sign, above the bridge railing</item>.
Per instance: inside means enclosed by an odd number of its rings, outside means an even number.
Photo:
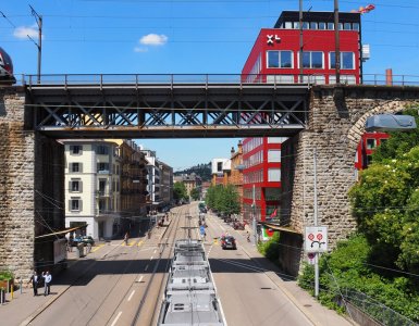
[[[274,28],[262,28],[242,71],[243,80],[334,84],[335,32],[332,12],[284,11]],[[359,84],[362,45],[359,13],[340,13],[341,83]],[[367,58],[363,58],[367,59]],[[303,64],[303,75],[301,66]]]

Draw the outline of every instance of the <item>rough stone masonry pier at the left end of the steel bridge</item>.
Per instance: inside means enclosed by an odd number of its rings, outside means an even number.
[[[34,264],[34,145],[25,92],[0,88],[0,269],[27,278]]]

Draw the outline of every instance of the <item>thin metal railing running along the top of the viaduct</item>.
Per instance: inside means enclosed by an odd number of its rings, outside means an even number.
[[[304,75],[303,78],[284,75],[246,75],[242,74],[47,74],[41,75],[38,82],[37,75],[22,75],[16,78],[17,84],[25,86],[57,85],[322,85],[324,75]],[[301,82],[299,82],[301,80]],[[341,84],[354,84],[342,75]],[[392,80],[386,79],[385,74],[363,74],[362,85],[374,86],[419,86],[419,75],[393,75]],[[333,85],[330,83],[330,85]]]

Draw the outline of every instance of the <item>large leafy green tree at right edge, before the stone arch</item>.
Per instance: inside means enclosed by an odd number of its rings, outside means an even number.
[[[419,146],[382,159],[349,191],[359,230],[380,265],[419,272]]]

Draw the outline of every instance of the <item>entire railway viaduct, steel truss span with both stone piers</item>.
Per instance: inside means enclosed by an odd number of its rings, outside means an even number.
[[[122,100],[123,99],[123,100]],[[313,148],[319,224],[330,246],[356,227],[347,191],[368,116],[419,105],[419,87],[208,84],[0,88],[0,269],[27,278],[52,264],[36,237],[64,228],[64,155],[59,138],[286,136],[281,263],[295,274],[313,224]],[[178,110],[177,110],[178,109]],[[289,250],[287,249],[289,248]]]

